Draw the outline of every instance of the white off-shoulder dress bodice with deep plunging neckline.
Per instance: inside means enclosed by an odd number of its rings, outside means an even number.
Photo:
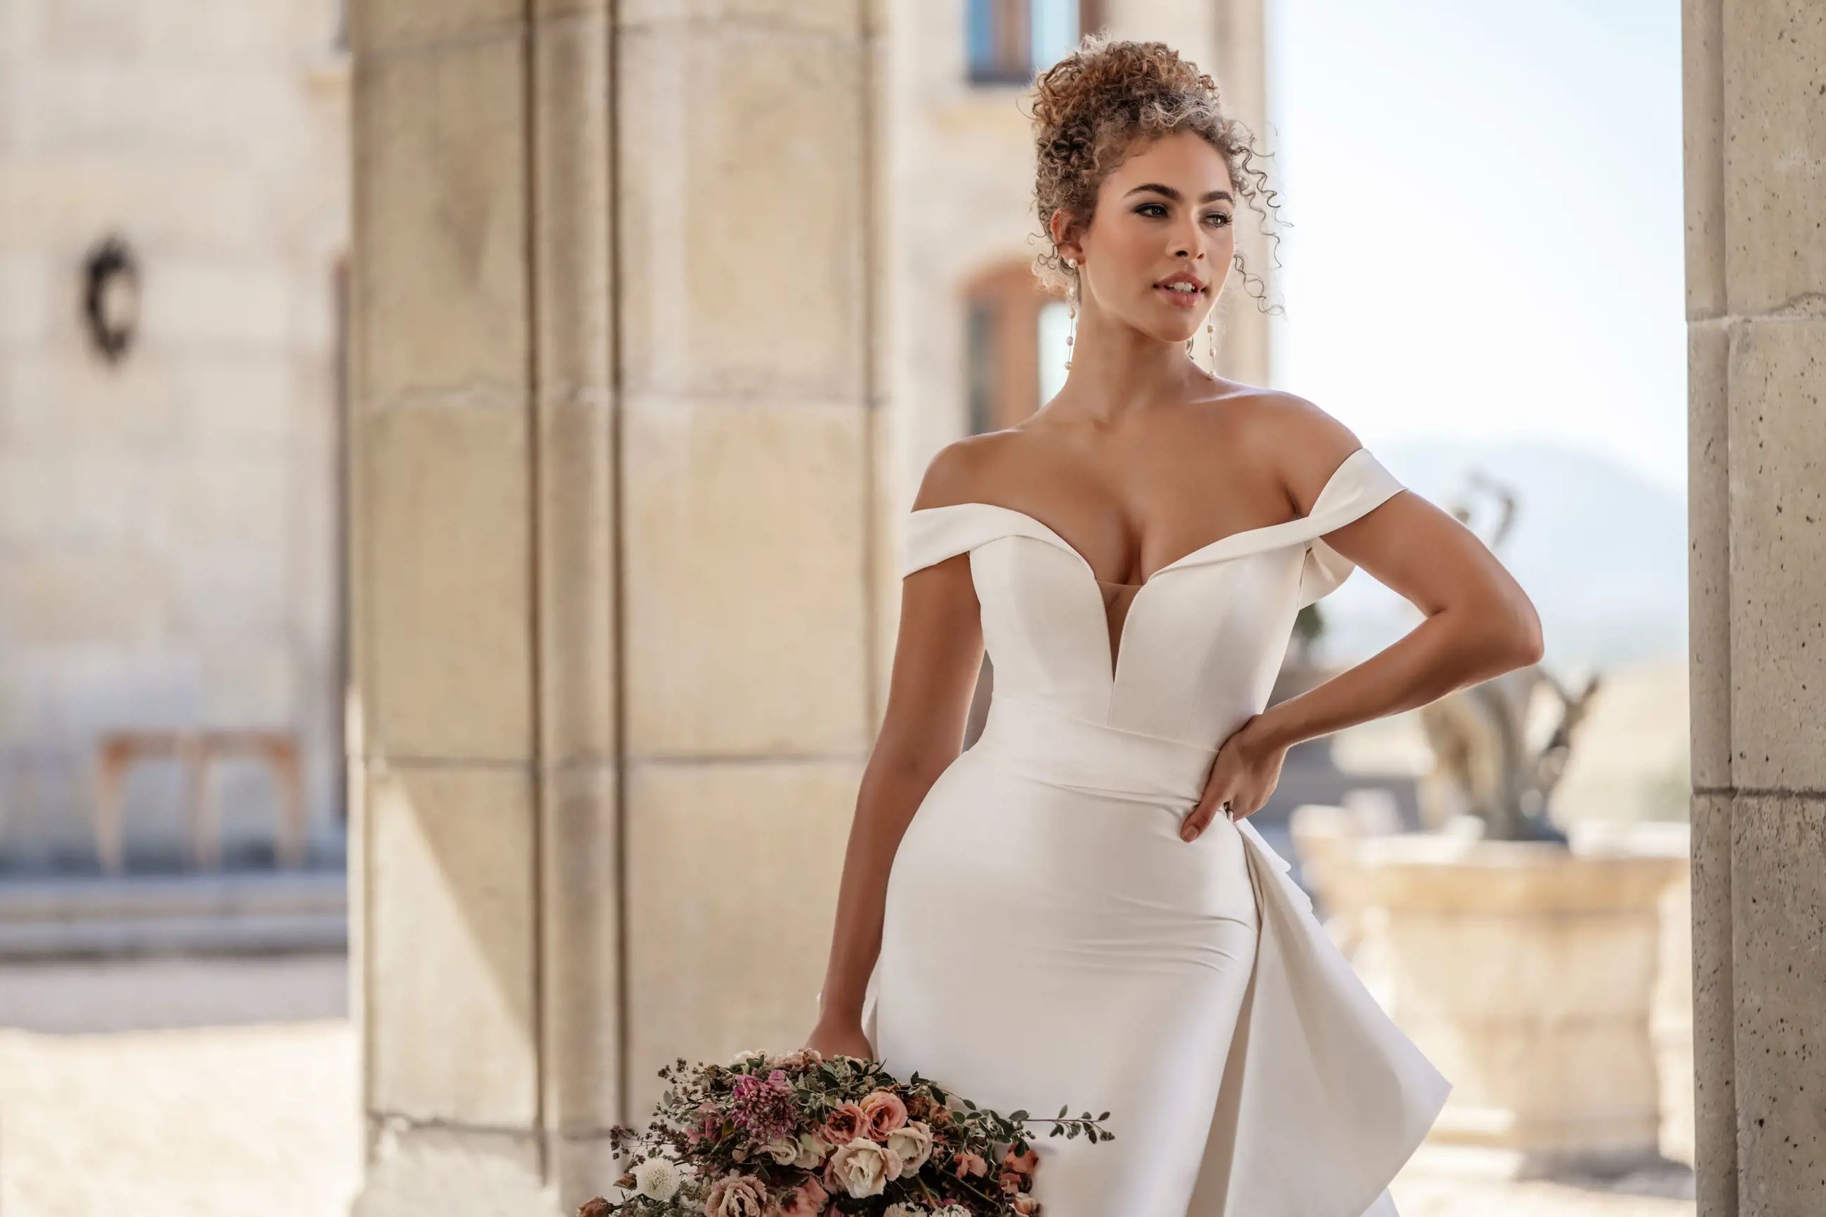
[[[995,504],[908,515],[902,577],[959,553],[995,664],[995,699],[1194,746],[1216,746],[1267,704],[1300,608],[1353,564],[1322,536],[1401,491],[1370,449],[1331,473],[1313,509],[1244,529],[1154,571],[1110,626],[1090,562],[1034,516]]]

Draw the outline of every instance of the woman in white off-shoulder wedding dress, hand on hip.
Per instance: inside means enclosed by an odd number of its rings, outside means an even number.
[[[1002,1113],[1108,1111],[1107,1142],[1034,1128],[1044,1217],[1388,1217],[1450,1084],[1247,817],[1289,746],[1534,662],[1539,620],[1344,423],[1189,358],[1262,177],[1209,75],[1092,36],[1034,120],[1070,370],[1030,420],[942,449],[904,520],[805,1044]],[[1424,620],[1267,706],[1295,615],[1353,566]]]

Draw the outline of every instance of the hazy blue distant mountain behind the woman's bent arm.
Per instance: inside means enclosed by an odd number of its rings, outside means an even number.
[[[1687,651],[1687,504],[1594,452],[1552,443],[1410,440],[1375,445],[1402,485],[1444,509],[1472,505],[1488,540],[1495,502],[1475,493],[1472,469],[1514,489],[1514,527],[1495,551],[1541,613],[1547,666],[1676,659]],[[1355,662],[1419,620],[1415,609],[1364,573],[1320,602],[1326,653]]]

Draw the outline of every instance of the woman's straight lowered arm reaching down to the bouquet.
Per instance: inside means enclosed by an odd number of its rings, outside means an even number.
[[[962,473],[955,447],[933,458],[915,507],[959,498],[951,485]],[[900,580],[887,706],[856,794],[831,960],[807,1047],[867,1055],[862,996],[882,943],[887,872],[926,792],[957,759],[981,664],[982,619],[970,580],[970,555],[953,555]]]

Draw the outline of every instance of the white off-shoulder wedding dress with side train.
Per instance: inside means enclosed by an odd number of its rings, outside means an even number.
[[[968,555],[995,688],[895,854],[864,1031],[1004,1115],[1110,1113],[1114,1140],[1030,1129],[1043,1217],[1395,1213],[1450,1084],[1247,817],[1178,830],[1295,613],[1351,571],[1324,533],[1401,489],[1357,449],[1307,516],[1139,586],[1012,507],[906,518],[902,575]]]

